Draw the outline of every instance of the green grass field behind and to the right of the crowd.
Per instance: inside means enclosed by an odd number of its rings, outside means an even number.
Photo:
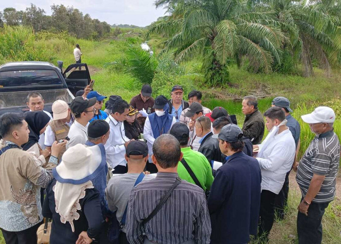
[[[111,69],[107,64],[120,59],[124,55],[127,42],[132,43],[132,45],[139,45],[143,41],[142,32],[141,30],[134,30],[133,34],[122,34],[118,38],[104,41],[77,40],[67,36],[58,37],[56,34],[44,33],[40,36],[34,36],[35,41],[27,42],[30,46],[26,46],[23,52],[32,52],[29,57],[34,57],[33,60],[50,61],[55,65],[57,65],[57,60],[62,60],[65,68],[70,63],[73,63],[73,45],[75,42],[79,43],[83,52],[82,61],[90,66],[91,77],[95,80],[95,90],[108,97],[110,95],[120,95],[129,102],[133,96],[139,93],[140,82],[136,81],[131,75]],[[164,41],[162,38],[152,36],[148,43],[155,52],[159,52],[162,48],[162,41]],[[14,56],[12,58],[0,56],[0,64],[7,61],[19,61],[19,57],[28,56]],[[201,67],[199,58],[181,65],[196,72],[200,71]],[[230,114],[237,115],[240,126],[244,121],[240,101],[243,96],[254,94],[263,97],[259,100],[259,108],[262,112],[270,107],[274,97],[287,97],[292,102],[293,116],[299,120],[302,126],[299,154],[301,156],[314,135],[310,132],[308,125],[300,120],[300,116],[310,113],[314,107],[322,104],[332,106],[337,117],[340,118],[341,116],[341,100],[339,99],[341,71],[333,70],[330,78],[326,78],[323,72],[317,68],[314,71],[314,77],[303,78],[298,75],[277,73],[251,74],[245,68],[238,69],[236,65],[232,65],[229,68],[230,84],[220,88],[212,88],[198,78],[193,81],[193,86],[203,92],[203,104],[205,106],[211,109],[218,105],[225,107]],[[341,135],[340,120],[335,122],[335,131],[339,136]],[[289,238],[289,235],[297,235],[296,215],[301,193],[295,187],[296,185],[295,181],[291,182],[287,217],[284,221],[274,224],[270,234],[271,243],[297,243],[295,239]],[[323,243],[341,243],[340,199],[329,205],[322,224]],[[0,235],[0,244],[3,243],[4,241]],[[257,242],[254,241],[253,243]]]

